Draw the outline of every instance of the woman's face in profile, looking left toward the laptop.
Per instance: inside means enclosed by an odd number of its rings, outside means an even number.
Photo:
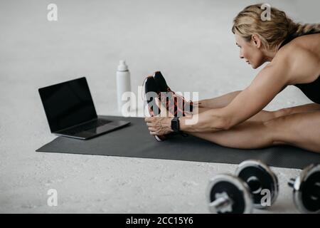
[[[258,68],[265,63],[263,53],[255,41],[251,39],[251,41],[248,42],[235,33],[235,43],[240,48],[239,57],[243,58],[252,68]]]

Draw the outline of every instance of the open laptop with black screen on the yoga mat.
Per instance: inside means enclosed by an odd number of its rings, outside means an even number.
[[[87,140],[129,125],[98,117],[87,79],[78,78],[39,88],[51,133]]]

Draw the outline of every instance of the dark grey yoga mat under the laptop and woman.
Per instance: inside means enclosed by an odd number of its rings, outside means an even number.
[[[320,163],[320,154],[291,146],[239,150],[221,147],[191,135],[187,137],[174,135],[169,140],[157,142],[154,137],[149,135],[144,118],[115,116],[107,116],[106,118],[129,120],[131,124],[90,140],[58,137],[36,151],[232,164],[239,164],[248,159],[258,159],[274,167],[299,169],[312,162]]]

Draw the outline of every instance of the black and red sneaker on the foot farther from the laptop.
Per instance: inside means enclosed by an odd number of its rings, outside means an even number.
[[[174,116],[192,115],[193,102],[187,101],[182,95],[174,93],[169,88],[160,71],[154,73],[154,81],[160,90],[159,98],[164,107]]]

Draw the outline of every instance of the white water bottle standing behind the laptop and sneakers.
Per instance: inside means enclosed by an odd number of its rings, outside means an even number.
[[[122,100],[122,94],[131,91],[130,72],[124,60],[120,60],[117,68],[117,102],[118,110],[121,113],[122,105],[127,103],[127,100]]]

